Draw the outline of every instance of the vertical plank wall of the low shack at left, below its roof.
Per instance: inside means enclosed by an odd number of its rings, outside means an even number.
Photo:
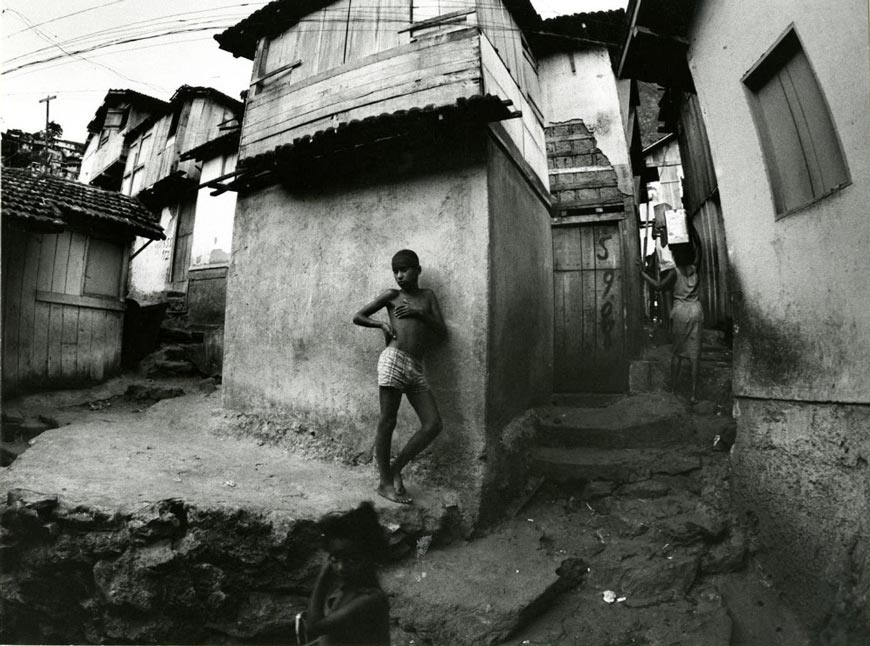
[[[4,393],[100,381],[120,369],[120,301],[112,309],[69,304],[88,300],[80,298],[87,242],[78,232],[4,230]],[[52,298],[37,299],[38,291]],[[50,302],[58,300],[69,302]]]

